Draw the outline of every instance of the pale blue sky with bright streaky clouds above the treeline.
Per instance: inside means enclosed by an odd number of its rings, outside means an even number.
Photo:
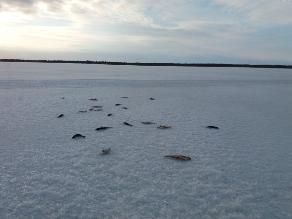
[[[292,65],[292,0],[0,0],[0,58]]]

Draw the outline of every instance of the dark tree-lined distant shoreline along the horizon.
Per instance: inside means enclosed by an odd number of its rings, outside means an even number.
[[[66,60],[29,60],[29,59],[0,59],[0,62],[42,62],[42,63],[79,63],[99,65],[140,65],[140,66],[179,66],[179,67],[240,67],[240,68],[286,68],[292,65],[240,65],[240,64],[213,64],[213,63],[142,63],[142,62],[107,62],[107,61],[66,61]]]

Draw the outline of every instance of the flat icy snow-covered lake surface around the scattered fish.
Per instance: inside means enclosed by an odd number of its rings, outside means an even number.
[[[0,62],[0,103],[1,219],[292,218],[291,69]]]

